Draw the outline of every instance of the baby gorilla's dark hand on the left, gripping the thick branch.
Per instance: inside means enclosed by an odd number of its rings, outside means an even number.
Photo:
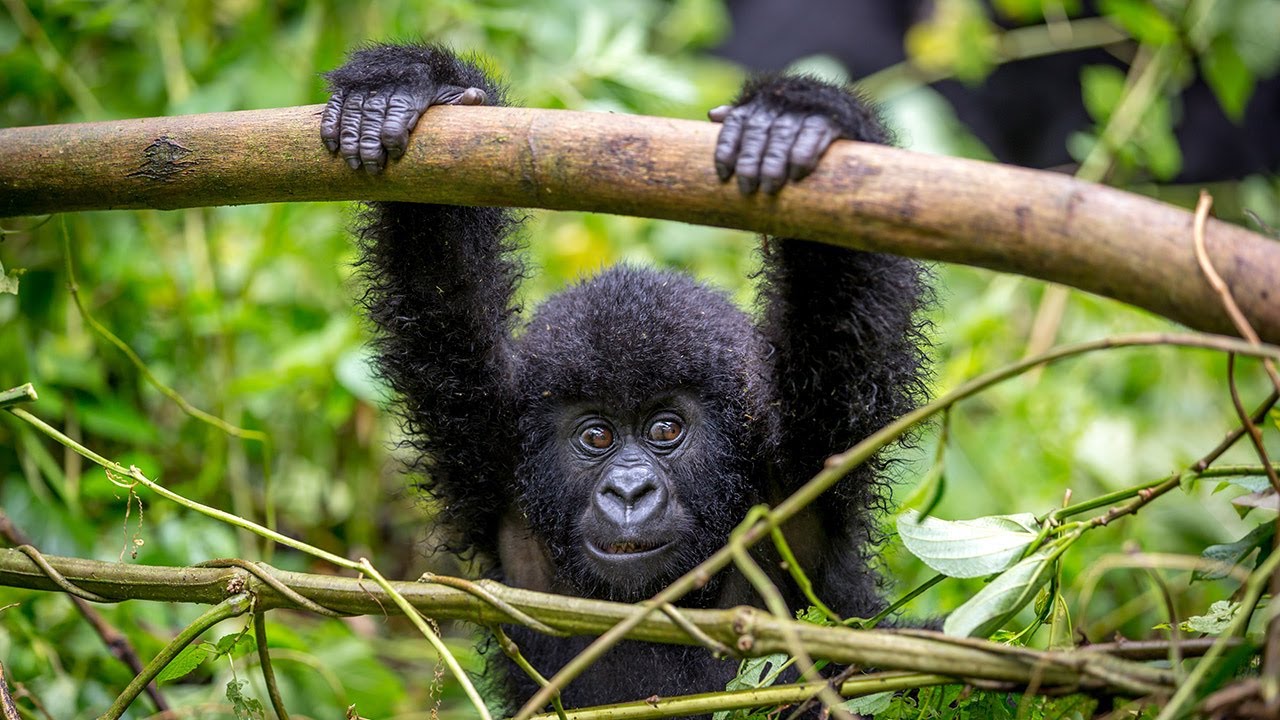
[[[380,173],[408,147],[408,133],[431,105],[484,105],[486,92],[449,82],[449,64],[434,47],[376,46],[351,55],[325,74],[333,96],[320,120],[320,140],[352,169]],[[452,55],[449,56],[452,60]]]

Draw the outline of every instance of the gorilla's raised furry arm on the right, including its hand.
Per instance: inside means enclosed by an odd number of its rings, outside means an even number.
[[[722,120],[716,150],[721,178],[736,174],[744,193],[778,192],[812,172],[837,137],[888,143],[874,110],[842,88],[806,77],[749,81]],[[856,232],[856,231],[855,231]],[[780,470],[790,492],[847,448],[924,397],[927,342],[916,311],[928,297],[919,264],[790,238],[764,249],[762,325],[773,343],[781,410]],[[855,470],[822,502],[818,527],[870,547],[873,512],[881,501],[883,460]],[[845,612],[865,612],[878,601],[874,580],[850,553],[827,555],[829,539],[814,538],[818,592]],[[832,592],[824,593],[824,587]],[[835,596],[835,597],[833,597]]]

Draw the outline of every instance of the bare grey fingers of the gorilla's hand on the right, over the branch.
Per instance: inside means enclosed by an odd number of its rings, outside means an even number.
[[[716,173],[722,181],[737,174],[742,195],[756,188],[773,195],[788,178],[804,178],[841,136],[828,115],[780,109],[765,97],[759,94],[741,105],[721,105],[707,113],[713,122],[724,123],[716,141]]]

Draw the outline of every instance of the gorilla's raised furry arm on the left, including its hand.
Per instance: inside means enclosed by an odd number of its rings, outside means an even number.
[[[326,78],[321,140],[371,173],[403,154],[428,106],[502,95],[475,64],[429,45],[360,50]],[[518,450],[506,388],[521,275],[507,240],[515,224],[498,208],[372,202],[357,227],[376,366],[401,398],[406,442],[458,533],[453,548],[490,555],[506,502],[499,479]]]

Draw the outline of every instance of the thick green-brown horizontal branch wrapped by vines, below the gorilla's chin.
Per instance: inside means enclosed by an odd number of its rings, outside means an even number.
[[[45,556],[63,579],[110,600],[155,600],[216,605],[242,592],[257,596],[256,607],[296,607],[287,597],[241,568],[159,568]],[[397,607],[369,579],[338,578],[274,570],[273,575],[301,596],[344,614],[383,615]],[[0,585],[59,591],[31,557],[13,548],[0,550]],[[429,583],[392,583],[404,598],[436,619],[468,620],[480,625],[513,619],[466,591]],[[529,616],[568,634],[600,634],[635,607],[577,597],[562,597],[485,585],[492,594]],[[751,607],[680,610],[704,634],[742,655],[787,652],[787,633],[799,635],[814,657],[884,670],[901,669],[961,679],[1018,685],[1093,688],[1121,694],[1170,692],[1172,675],[1093,652],[1036,652],[982,641],[957,641],[913,630],[826,628],[795,620],[782,621]],[[786,629],[783,628],[786,623]],[[635,628],[634,639],[696,644],[671,618],[657,614]]]

